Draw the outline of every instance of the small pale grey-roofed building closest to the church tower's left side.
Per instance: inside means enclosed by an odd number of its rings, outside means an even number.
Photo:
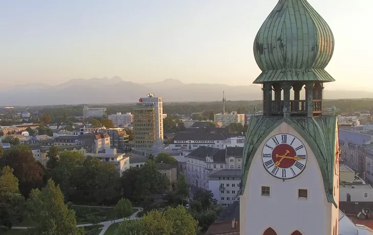
[[[223,169],[211,171],[208,180],[208,189],[222,206],[229,206],[239,201],[242,170]]]

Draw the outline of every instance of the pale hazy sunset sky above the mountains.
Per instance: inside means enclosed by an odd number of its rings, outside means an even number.
[[[278,0],[2,0],[0,82],[248,85],[252,44]],[[373,2],[309,0],[336,40],[327,89],[372,90]]]

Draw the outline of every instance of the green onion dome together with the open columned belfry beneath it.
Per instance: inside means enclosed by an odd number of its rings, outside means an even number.
[[[253,83],[263,84],[264,115],[322,115],[323,83],[335,81],[324,70],[333,55],[334,37],[306,0],[279,0],[255,37],[253,49],[262,70]],[[303,86],[306,98],[300,99]]]

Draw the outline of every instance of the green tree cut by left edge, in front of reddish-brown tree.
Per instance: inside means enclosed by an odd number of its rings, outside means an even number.
[[[25,198],[19,193],[13,169],[0,169],[0,226],[8,230],[25,216]],[[0,231],[1,233],[1,231]]]

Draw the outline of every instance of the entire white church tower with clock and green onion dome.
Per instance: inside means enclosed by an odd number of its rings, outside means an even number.
[[[336,235],[337,117],[323,115],[334,37],[306,0],[279,0],[254,40],[263,115],[246,135],[242,235]]]

